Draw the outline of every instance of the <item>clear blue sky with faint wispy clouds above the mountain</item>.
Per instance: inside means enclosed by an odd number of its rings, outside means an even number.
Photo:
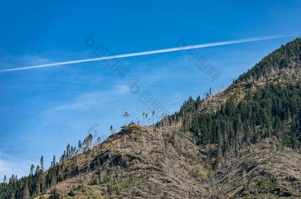
[[[6,69],[96,57],[100,44],[117,55],[176,47],[183,36],[187,45],[300,36],[301,1],[12,0],[1,2],[0,18],[0,69]],[[91,33],[95,44],[88,47]],[[0,178],[28,174],[41,155],[49,166],[54,154],[59,159],[68,143],[76,145],[91,129],[107,137],[111,124],[119,129],[125,123],[125,107],[142,104],[145,91],[151,102],[169,103],[174,111],[190,95],[227,86],[294,38],[198,49],[220,72],[214,81],[189,60],[188,51],[120,58],[129,69],[122,79],[104,61],[0,73]],[[137,80],[140,92],[133,94]],[[181,94],[179,102],[174,93]],[[142,122],[142,113],[130,114],[128,120]]]

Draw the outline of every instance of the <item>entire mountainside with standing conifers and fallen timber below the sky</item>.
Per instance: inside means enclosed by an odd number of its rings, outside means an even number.
[[[91,143],[0,184],[0,198],[300,198],[301,39],[154,127]]]

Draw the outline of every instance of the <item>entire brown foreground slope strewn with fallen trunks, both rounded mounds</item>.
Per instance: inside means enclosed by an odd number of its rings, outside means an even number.
[[[208,147],[215,150],[217,145],[197,146],[192,139],[178,129],[126,126],[70,160],[72,170],[80,168],[78,174],[55,188],[62,198],[71,190],[75,198],[300,196],[301,154],[275,138],[228,154],[216,171],[208,169],[207,155]]]

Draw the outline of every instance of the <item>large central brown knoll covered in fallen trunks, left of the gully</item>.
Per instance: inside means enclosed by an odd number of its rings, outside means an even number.
[[[207,190],[205,156],[177,129],[124,127],[70,160],[77,173],[55,187],[62,196],[200,198]]]

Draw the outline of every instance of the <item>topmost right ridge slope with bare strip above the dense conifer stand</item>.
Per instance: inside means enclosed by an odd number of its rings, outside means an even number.
[[[226,90],[221,90],[206,100],[199,111],[214,111],[225,104],[233,94],[238,102],[246,100],[248,88],[275,82],[296,82],[301,79],[301,38],[282,45],[264,57],[248,72],[240,75]]]

